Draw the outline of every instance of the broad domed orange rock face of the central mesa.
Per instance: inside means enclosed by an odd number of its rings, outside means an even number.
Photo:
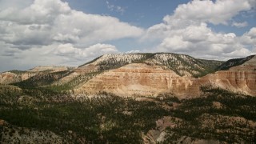
[[[119,69],[99,74],[74,90],[76,94],[95,94],[109,92],[122,96],[156,96],[161,93],[174,93],[180,97],[199,94],[194,78],[180,77],[172,70],[160,66],[132,63]],[[195,87],[196,86],[196,87]]]

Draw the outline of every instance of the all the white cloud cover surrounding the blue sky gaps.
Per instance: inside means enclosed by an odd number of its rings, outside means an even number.
[[[122,7],[106,3],[110,10],[122,12]],[[53,64],[78,66],[101,54],[118,53],[115,46],[103,43],[119,38],[140,38],[146,46],[155,46],[145,52],[245,57],[256,53],[256,27],[237,36],[218,33],[210,24],[246,26],[232,18],[253,7],[255,0],[194,0],[178,6],[174,14],[144,33],[118,18],[72,10],[61,0],[0,0],[0,71]]]

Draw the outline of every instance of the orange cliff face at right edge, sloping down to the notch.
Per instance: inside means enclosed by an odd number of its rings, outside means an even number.
[[[229,70],[219,70],[199,78],[201,85],[210,83],[222,89],[234,92],[256,95],[256,56],[242,65],[230,67]]]

